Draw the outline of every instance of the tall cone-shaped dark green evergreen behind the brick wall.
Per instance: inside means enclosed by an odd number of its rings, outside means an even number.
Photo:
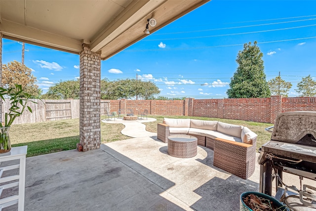
[[[243,50],[238,52],[236,59],[237,71],[227,90],[229,98],[270,97],[262,57],[263,53],[257,42],[254,45],[251,42],[243,45]]]

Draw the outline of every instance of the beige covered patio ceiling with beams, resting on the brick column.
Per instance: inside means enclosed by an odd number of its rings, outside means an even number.
[[[82,43],[107,59],[208,0],[0,0],[3,38],[79,54]]]

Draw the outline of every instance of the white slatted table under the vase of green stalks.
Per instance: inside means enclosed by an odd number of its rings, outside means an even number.
[[[19,186],[18,195],[0,199],[0,210],[2,208],[6,208],[9,206],[18,204],[18,211],[24,211],[25,161],[26,161],[27,149],[28,149],[28,146],[12,147],[10,152],[0,154],[0,164],[1,162],[5,162],[5,161],[19,160],[19,164],[5,166],[5,167],[0,168],[0,196],[1,196],[2,190]],[[3,171],[11,170],[11,169],[19,169],[19,174],[1,178]],[[17,179],[19,181],[1,185],[1,183],[9,182],[9,181],[17,180]]]

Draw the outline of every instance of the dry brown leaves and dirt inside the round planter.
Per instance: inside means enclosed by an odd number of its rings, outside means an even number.
[[[286,211],[287,207],[277,207],[269,199],[258,197],[254,194],[249,194],[245,198],[242,198],[243,203],[245,203],[248,208],[252,211]]]

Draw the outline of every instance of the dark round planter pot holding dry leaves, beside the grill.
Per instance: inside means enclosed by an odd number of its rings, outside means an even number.
[[[242,193],[240,195],[240,211],[253,211],[243,201],[243,199],[246,198],[250,194],[253,194],[253,195],[258,196],[260,198],[270,200],[270,202],[272,202],[272,204],[274,204],[276,206],[276,208],[280,208],[277,211],[290,211],[289,208],[287,208],[284,204],[277,201],[275,198],[273,198],[267,194],[263,194],[263,193],[259,193],[259,192],[244,192],[244,193]]]

